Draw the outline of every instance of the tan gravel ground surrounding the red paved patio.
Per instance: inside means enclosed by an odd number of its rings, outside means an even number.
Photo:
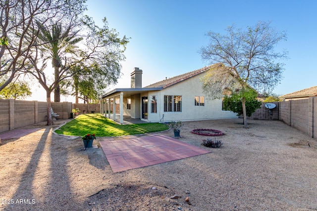
[[[222,147],[117,173],[98,138],[98,149],[83,151],[80,138],[52,133],[63,121],[32,126],[42,129],[1,140],[0,210],[316,211],[316,139],[278,121],[241,122],[185,122],[180,140],[203,147],[207,136],[191,130],[211,128],[224,133]]]

